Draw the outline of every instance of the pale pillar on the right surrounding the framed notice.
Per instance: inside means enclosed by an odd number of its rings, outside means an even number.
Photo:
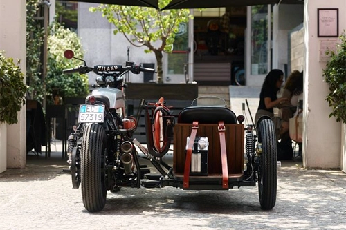
[[[339,32],[346,28],[346,1],[305,0],[305,69],[304,69],[304,144],[303,161],[307,168],[340,168],[341,124],[329,118],[325,97],[329,93],[323,82],[324,62],[319,62],[317,9],[339,9]]]

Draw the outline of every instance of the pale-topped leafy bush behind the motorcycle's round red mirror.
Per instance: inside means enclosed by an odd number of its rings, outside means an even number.
[[[65,50],[73,50],[75,57],[83,58],[82,44],[80,38],[75,32],[64,28],[59,23],[53,23],[51,34],[48,37],[48,66],[46,82],[47,95],[52,97],[58,95],[65,97],[85,97],[89,93],[88,76],[63,75],[62,70],[66,68],[75,68],[82,63],[77,59],[64,58]]]

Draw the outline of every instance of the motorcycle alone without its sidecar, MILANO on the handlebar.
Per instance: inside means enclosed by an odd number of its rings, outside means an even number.
[[[75,58],[66,50],[67,59]],[[140,187],[148,169],[141,169],[132,144],[136,119],[125,115],[123,75],[128,72],[155,73],[154,69],[127,61],[122,65],[97,65],[86,62],[78,68],[63,70],[64,74],[93,72],[97,86],[80,105],[78,126],[68,137],[68,157],[74,189],[82,187],[82,199],[88,211],[100,211],[106,204],[107,190],[116,192],[121,186]],[[81,142],[78,140],[82,139]],[[136,170],[137,169],[137,170]],[[140,170],[138,170],[140,169]],[[65,170],[66,171],[66,170]]]

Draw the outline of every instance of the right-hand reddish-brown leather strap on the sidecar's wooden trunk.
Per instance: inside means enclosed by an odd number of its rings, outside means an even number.
[[[225,124],[219,122],[217,127],[220,135],[220,148],[221,148],[221,164],[222,164],[222,187],[228,189],[228,166],[227,166],[227,151],[226,151],[226,137],[225,137]]]

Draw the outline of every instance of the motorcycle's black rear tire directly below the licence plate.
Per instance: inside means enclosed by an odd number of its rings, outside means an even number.
[[[104,128],[91,124],[84,129],[80,154],[80,178],[83,204],[90,212],[101,211],[106,204],[104,155],[107,152]]]

